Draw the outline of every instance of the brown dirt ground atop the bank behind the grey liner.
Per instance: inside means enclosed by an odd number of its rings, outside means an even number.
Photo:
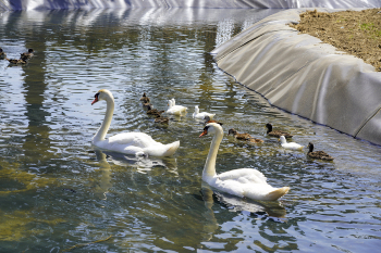
[[[290,26],[362,59],[381,72],[381,8],[332,13],[307,11],[300,13],[299,24]]]

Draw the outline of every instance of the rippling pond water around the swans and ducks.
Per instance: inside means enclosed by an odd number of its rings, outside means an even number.
[[[7,12],[0,47],[27,48],[26,66],[0,61],[0,252],[376,252],[381,246],[381,149],[270,106],[234,84],[208,54],[279,10],[128,10]],[[144,131],[181,141],[172,157],[135,159],[95,150],[90,139],[115,97],[110,134]],[[143,110],[167,100],[188,114],[158,126]],[[261,170],[279,202],[214,192],[201,182],[211,137],[194,105],[213,112],[225,136],[218,172]],[[315,142],[334,162],[285,152],[265,124]]]

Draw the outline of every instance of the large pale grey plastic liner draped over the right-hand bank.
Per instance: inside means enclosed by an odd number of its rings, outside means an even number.
[[[381,144],[381,73],[286,25],[302,11],[268,16],[221,45],[218,66],[278,107]]]

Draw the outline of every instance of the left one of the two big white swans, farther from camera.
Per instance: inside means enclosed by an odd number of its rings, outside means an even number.
[[[100,100],[106,100],[107,110],[102,125],[93,137],[94,146],[124,154],[153,156],[170,156],[177,150],[180,141],[162,144],[144,132],[123,132],[105,139],[114,111],[114,98],[109,90],[101,89],[95,94],[91,105]]]

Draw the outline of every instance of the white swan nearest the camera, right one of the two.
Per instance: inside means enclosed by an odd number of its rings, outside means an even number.
[[[217,123],[209,123],[199,137],[208,132],[214,135],[202,172],[202,180],[208,185],[220,191],[253,200],[273,201],[288,192],[288,187],[273,188],[267,184],[265,175],[255,168],[238,168],[217,175],[216,157],[223,138],[223,129]]]

